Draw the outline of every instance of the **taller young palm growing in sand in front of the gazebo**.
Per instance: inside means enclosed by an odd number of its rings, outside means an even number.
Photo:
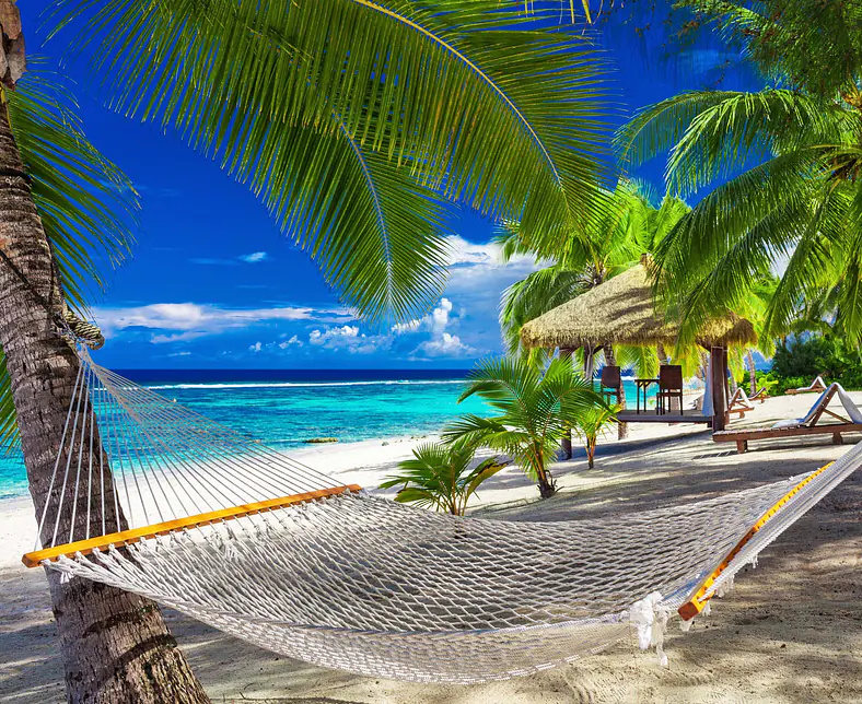
[[[498,414],[464,415],[443,433],[509,455],[538,485],[543,498],[556,484],[550,462],[579,414],[604,406],[592,385],[576,376],[571,360],[558,357],[544,373],[523,359],[488,360],[470,372],[458,402],[478,395]]]

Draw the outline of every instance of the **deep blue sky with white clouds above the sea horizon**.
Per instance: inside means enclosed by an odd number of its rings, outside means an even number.
[[[31,54],[57,63],[60,43],[43,45],[39,13],[47,0],[21,2]],[[626,112],[679,90],[700,87],[709,74],[648,66],[629,33],[606,42],[616,68],[610,87]],[[727,58],[695,46],[709,69]],[[734,58],[734,57],[730,57]],[[691,62],[689,62],[690,64]],[[143,212],[138,245],[94,301],[108,339],[101,363],[116,368],[465,368],[501,352],[500,293],[533,268],[508,266],[488,242],[492,225],[453,208],[450,281],[420,319],[369,327],[342,308],[317,268],[279,233],[246,186],[191,151],[177,134],[106,109],[106,95],[85,63],[63,69],[79,85],[81,116],[91,140],[131,178]],[[704,78],[706,77],[706,78]],[[752,87],[739,70],[725,87]],[[640,175],[661,191],[662,164]]]

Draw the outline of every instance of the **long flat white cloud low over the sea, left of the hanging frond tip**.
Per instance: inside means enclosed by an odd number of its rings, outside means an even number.
[[[339,309],[300,306],[270,308],[222,308],[212,304],[153,303],[125,308],[96,308],[95,319],[106,337],[127,328],[159,330],[154,343],[193,340],[231,329],[242,329],[272,321],[340,321],[351,315]]]

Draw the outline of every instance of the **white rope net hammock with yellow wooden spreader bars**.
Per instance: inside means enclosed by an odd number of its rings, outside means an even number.
[[[632,624],[661,645],[668,614],[700,612],[862,461],[604,520],[459,518],[338,485],[80,356],[25,564],[369,676],[506,679]]]

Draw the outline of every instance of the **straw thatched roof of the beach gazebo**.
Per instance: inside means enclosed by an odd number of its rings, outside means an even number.
[[[673,345],[677,332],[678,326],[655,309],[646,268],[640,263],[531,320],[521,329],[521,341],[527,349]],[[729,314],[703,326],[698,342],[704,347],[755,344],[757,333],[750,321]]]

